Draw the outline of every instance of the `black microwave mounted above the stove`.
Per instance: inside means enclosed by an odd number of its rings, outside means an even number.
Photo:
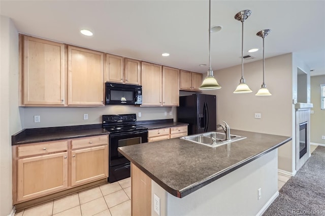
[[[105,104],[142,104],[142,86],[105,83]]]

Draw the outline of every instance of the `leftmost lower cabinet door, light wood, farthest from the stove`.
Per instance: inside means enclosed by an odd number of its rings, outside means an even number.
[[[66,189],[68,187],[68,153],[55,153],[18,159],[18,201]]]

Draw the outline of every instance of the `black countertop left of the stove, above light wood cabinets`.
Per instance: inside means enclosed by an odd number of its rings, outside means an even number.
[[[33,142],[109,134],[102,124],[23,129],[12,135],[12,146]]]

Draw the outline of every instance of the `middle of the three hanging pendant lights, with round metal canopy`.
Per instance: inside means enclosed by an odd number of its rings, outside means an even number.
[[[252,90],[246,85],[244,79],[244,21],[252,12],[250,10],[243,10],[235,15],[235,19],[242,22],[242,77],[240,78],[239,85],[234,93],[250,93]]]

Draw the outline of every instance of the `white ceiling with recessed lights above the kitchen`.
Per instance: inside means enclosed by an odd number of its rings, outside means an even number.
[[[297,53],[312,76],[325,74],[325,1],[216,1],[211,3],[212,69],[241,64],[241,22],[237,12],[249,9],[244,22],[244,55],[262,59]],[[21,33],[121,56],[206,73],[209,1],[0,1],[1,15],[12,18]],[[79,31],[87,28],[93,36]],[[161,53],[169,52],[169,57]],[[267,65],[266,65],[267,71]],[[215,74],[216,75],[216,74]]]

